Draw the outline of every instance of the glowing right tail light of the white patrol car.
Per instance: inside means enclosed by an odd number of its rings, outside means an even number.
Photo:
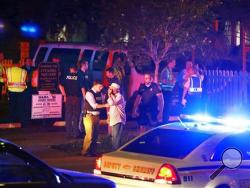
[[[161,166],[156,178],[155,183],[161,184],[181,184],[180,177],[177,174],[177,170],[170,164],[164,164]]]

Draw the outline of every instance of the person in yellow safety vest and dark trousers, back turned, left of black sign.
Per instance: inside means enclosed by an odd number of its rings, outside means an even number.
[[[19,67],[6,70],[9,93],[10,119],[12,122],[21,121],[24,125],[24,91],[27,88],[27,71]]]

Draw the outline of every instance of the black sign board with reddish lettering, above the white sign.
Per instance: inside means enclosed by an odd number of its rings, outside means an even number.
[[[59,65],[41,63],[38,67],[38,90],[56,93],[59,84]]]

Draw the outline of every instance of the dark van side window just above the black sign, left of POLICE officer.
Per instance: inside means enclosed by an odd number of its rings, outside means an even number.
[[[65,75],[70,64],[77,64],[80,49],[54,48],[49,54],[48,62],[53,62],[53,59],[58,59],[60,62],[61,74]]]

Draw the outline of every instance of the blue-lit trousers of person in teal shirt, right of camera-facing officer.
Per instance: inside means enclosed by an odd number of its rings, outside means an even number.
[[[168,123],[171,103],[172,103],[172,91],[163,91],[164,108],[163,108],[163,123]]]

